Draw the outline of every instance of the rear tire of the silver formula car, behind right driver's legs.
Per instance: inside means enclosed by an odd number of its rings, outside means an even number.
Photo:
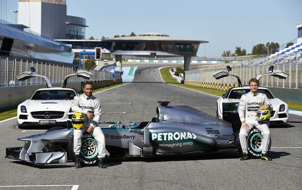
[[[252,130],[247,135],[247,152],[249,158],[261,158],[262,153],[262,135],[257,128],[252,128]],[[242,148],[240,144],[239,134],[235,136],[236,148],[240,156],[242,156]],[[269,137],[268,150],[271,147],[271,138]]]

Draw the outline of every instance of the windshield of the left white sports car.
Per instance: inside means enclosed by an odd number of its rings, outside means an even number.
[[[72,100],[75,96],[72,90],[40,90],[32,96],[31,100]]]

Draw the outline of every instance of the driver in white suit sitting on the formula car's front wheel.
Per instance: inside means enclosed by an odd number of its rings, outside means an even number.
[[[95,140],[97,141],[98,148],[98,166],[100,168],[106,168],[104,164],[104,158],[106,154],[105,148],[105,136],[98,126],[101,120],[101,102],[99,99],[92,95],[93,87],[90,82],[86,82],[83,88],[84,94],[74,97],[72,103],[72,111],[86,114],[88,119],[85,122],[85,127],[74,130],[74,152],[75,152],[75,167],[80,168],[80,150],[81,150],[81,140],[82,134],[92,133]]]

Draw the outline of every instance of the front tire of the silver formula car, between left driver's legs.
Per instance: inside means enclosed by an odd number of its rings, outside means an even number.
[[[73,162],[75,161],[74,136],[72,136],[68,142],[67,155]],[[81,165],[91,166],[97,164],[97,155],[97,141],[91,133],[84,133],[80,152]]]

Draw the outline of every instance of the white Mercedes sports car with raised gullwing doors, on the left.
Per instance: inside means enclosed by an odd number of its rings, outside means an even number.
[[[71,104],[79,93],[76,89],[66,88],[67,79],[78,76],[89,79],[92,74],[86,71],[76,71],[76,74],[65,76],[61,87],[52,87],[46,76],[40,76],[32,72],[23,72],[15,76],[18,80],[31,77],[44,78],[47,88],[38,89],[34,95],[18,105],[17,121],[20,129],[33,126],[68,126],[71,125]]]

